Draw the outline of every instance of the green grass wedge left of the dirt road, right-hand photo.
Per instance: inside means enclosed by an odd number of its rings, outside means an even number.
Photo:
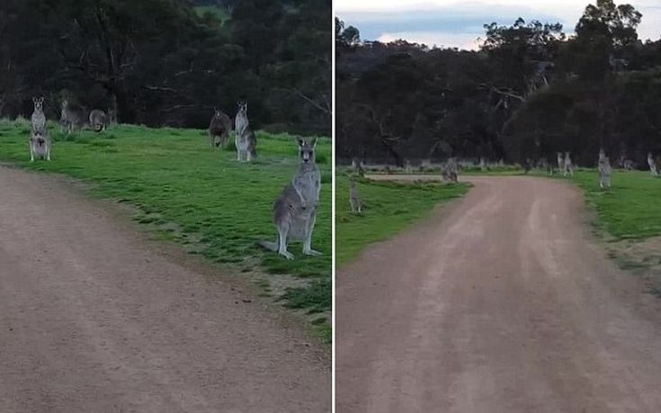
[[[397,184],[361,180],[362,215],[349,204],[349,177],[336,177],[335,262],[339,267],[357,257],[368,245],[390,238],[420,220],[441,202],[466,193],[469,184],[424,182]]]

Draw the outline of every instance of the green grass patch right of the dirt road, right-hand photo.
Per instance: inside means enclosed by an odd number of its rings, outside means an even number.
[[[609,190],[594,170],[577,171],[574,182],[598,216],[597,225],[616,240],[661,236],[661,178],[649,172],[614,172]]]

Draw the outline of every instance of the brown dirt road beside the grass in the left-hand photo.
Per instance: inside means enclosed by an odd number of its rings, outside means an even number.
[[[0,166],[0,411],[323,412],[323,349],[111,211]]]

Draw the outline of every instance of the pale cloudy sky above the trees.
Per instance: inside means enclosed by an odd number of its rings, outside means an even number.
[[[362,40],[404,39],[428,46],[477,49],[483,24],[560,22],[566,33],[590,0],[335,0],[335,14],[361,31]],[[643,14],[639,38],[661,38],[661,0],[629,2]],[[616,0],[616,4],[621,2]]]

